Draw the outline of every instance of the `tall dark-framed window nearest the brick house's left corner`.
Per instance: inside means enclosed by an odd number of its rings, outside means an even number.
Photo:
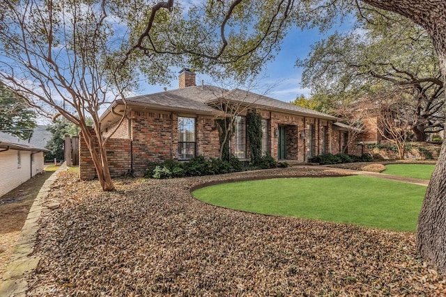
[[[195,119],[178,117],[178,159],[189,160],[195,156],[197,141]]]

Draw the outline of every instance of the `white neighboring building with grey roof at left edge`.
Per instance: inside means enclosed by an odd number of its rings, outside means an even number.
[[[0,132],[0,196],[42,173],[46,151]]]

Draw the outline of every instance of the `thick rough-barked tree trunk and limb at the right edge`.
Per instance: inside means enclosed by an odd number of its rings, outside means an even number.
[[[444,0],[362,0],[371,6],[390,10],[412,19],[431,35],[446,81],[446,1]],[[440,156],[418,217],[418,252],[446,273],[446,146]]]

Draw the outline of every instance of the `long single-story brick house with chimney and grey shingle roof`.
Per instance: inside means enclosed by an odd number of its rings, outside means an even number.
[[[216,86],[196,86],[195,73],[183,69],[176,90],[116,100],[101,116],[112,175],[134,172],[141,175],[155,161],[188,160],[203,155],[218,157],[220,134],[218,118],[228,114],[217,106],[241,106],[236,117],[231,154],[249,160],[245,115],[255,109],[263,120],[262,147],[278,160],[305,163],[321,153],[337,154],[348,137],[345,127],[334,126],[332,115],[304,109],[245,90],[225,90]],[[125,120],[116,128],[125,112]],[[95,176],[91,156],[80,141],[80,175]]]

